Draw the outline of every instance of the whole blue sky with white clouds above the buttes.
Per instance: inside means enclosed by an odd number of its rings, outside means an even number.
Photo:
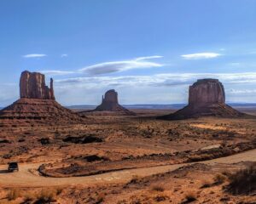
[[[55,80],[62,105],[186,103],[214,77],[228,102],[256,102],[256,1],[2,0],[0,106],[19,98],[20,72]]]

